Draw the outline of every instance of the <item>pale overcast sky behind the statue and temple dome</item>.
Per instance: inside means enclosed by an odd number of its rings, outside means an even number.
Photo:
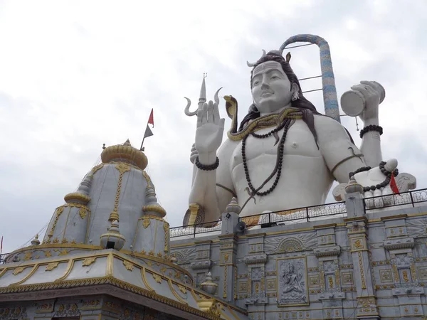
[[[223,87],[242,119],[251,102],[246,60],[298,33],[330,43],[338,97],[360,80],[384,85],[384,159],[397,158],[401,172],[427,187],[427,2],[262,2],[0,1],[3,252],[48,223],[100,160],[103,143],[129,138],[139,147],[152,108],[148,172],[169,223],[181,225],[196,127],[183,97],[196,105],[208,73],[208,98]],[[320,75],[317,46],[291,53],[299,78]],[[318,87],[319,79],[302,82],[303,90]],[[321,92],[306,97],[324,112]],[[226,117],[222,102],[220,110]],[[354,118],[342,123],[359,146]]]

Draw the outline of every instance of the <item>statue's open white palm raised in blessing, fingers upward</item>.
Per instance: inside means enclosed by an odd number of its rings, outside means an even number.
[[[197,112],[195,148],[201,163],[209,161],[210,155],[216,156],[216,150],[221,145],[223,138],[224,122],[225,119],[219,116],[216,102],[205,102],[203,108]]]

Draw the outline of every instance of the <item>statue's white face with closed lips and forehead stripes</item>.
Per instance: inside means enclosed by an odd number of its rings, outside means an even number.
[[[266,61],[253,70],[252,97],[260,114],[277,112],[290,104],[291,83],[276,61]]]

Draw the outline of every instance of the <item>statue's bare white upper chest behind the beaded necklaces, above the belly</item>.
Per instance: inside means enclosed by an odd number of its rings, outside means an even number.
[[[265,134],[273,128],[263,129],[256,132],[257,134]],[[258,139],[250,135],[246,139],[245,154],[246,160],[251,161],[252,159],[260,156],[275,156],[278,154],[280,148],[280,139],[283,137],[283,129],[278,132],[278,140],[271,135],[265,139]],[[233,152],[232,168],[238,166],[243,162],[242,158],[242,143],[240,142]],[[307,124],[302,120],[296,120],[292,127],[288,129],[286,134],[283,154],[285,156],[307,156],[307,157],[319,157],[320,150],[317,149],[315,138],[313,137]]]

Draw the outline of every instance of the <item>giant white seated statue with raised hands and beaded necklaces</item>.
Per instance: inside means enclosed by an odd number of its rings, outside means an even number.
[[[251,73],[253,105],[249,114],[240,127],[236,117],[233,119],[222,145],[224,119],[218,103],[205,102],[197,112],[189,196],[190,208],[196,208],[199,215],[197,222],[217,220],[233,196],[241,207],[241,217],[320,205],[334,180],[348,183],[349,173],[366,166],[372,169],[362,169],[354,179],[364,187],[383,185],[374,191],[365,188],[364,196],[391,193],[383,172],[394,171],[397,161],[379,166],[379,87],[371,81],[352,87],[364,97],[365,109],[359,117],[364,127],[371,128],[364,133],[359,149],[339,122],[317,112],[305,99],[296,75],[280,53],[263,55]],[[235,114],[236,100],[225,98],[228,114]],[[194,222],[194,216],[186,222]]]

